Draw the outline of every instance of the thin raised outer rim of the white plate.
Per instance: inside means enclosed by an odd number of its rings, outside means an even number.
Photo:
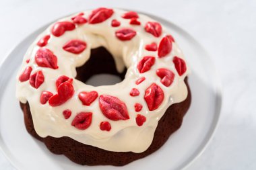
[[[222,101],[223,101],[223,91],[222,91],[222,83],[220,81],[220,74],[218,73],[218,70],[216,69],[216,66],[212,60],[212,55],[207,52],[207,50],[205,50],[205,48],[203,47],[203,45],[201,45],[196,38],[194,38],[193,36],[191,36],[191,34],[189,34],[189,32],[187,32],[186,30],[184,30],[181,26],[179,26],[178,24],[175,24],[174,22],[170,22],[168,19],[165,19],[163,17],[160,17],[156,14],[153,13],[148,13],[145,11],[140,11],[140,10],[135,10],[135,9],[127,9],[127,8],[120,8],[120,7],[112,7],[114,9],[123,9],[126,11],[136,11],[138,13],[141,13],[143,15],[148,15],[149,17],[157,20],[157,21],[162,21],[166,24],[171,24],[172,26],[174,26],[176,29],[179,29],[180,32],[182,32],[182,34],[184,34],[185,36],[187,36],[190,40],[192,40],[196,46],[199,46],[200,50],[202,50],[202,52],[204,54],[206,54],[207,56],[207,60],[209,60],[210,62],[212,62],[212,79],[214,79],[215,82],[215,94],[216,94],[216,112],[214,113],[214,120],[212,121],[212,126],[210,126],[210,130],[207,132],[207,135],[205,136],[205,139],[201,142],[201,146],[199,145],[199,147],[197,148],[197,150],[195,151],[195,153],[193,153],[193,155],[191,155],[191,157],[189,157],[189,159],[185,160],[183,162],[183,164],[181,164],[181,169],[187,169],[189,166],[191,166],[191,164],[193,164],[201,155],[202,153],[205,151],[205,148],[207,148],[207,146],[209,146],[210,142],[212,141],[212,138],[214,137],[214,134],[216,133],[216,131],[218,130],[219,124],[220,124],[220,116],[221,116],[221,112],[222,112]],[[90,10],[92,8],[88,8],[88,9],[83,9],[84,11],[86,10]],[[82,11],[83,11],[82,10]],[[81,11],[81,10],[79,10]],[[63,17],[67,17],[69,15],[72,15],[74,13],[78,13],[79,11],[75,11],[73,13],[68,13],[67,15],[63,15],[61,17],[58,17],[57,19],[61,19]],[[18,46],[22,46],[22,44],[26,41],[28,41],[28,39],[30,38],[30,36],[33,36],[33,34],[36,34],[39,30],[42,30],[43,28],[46,28],[47,26],[49,26],[50,24],[52,24],[53,22],[55,22],[57,19],[53,19],[51,22],[46,22],[46,24],[43,24],[42,26],[39,26],[39,28],[36,28],[32,33],[26,35],[24,38],[22,38],[22,40],[20,40],[20,42],[18,42],[17,44],[14,44],[12,46],[12,48],[10,48],[10,50],[8,50],[8,52],[5,54],[5,56],[3,57],[3,60],[0,62],[0,71],[3,71],[4,69],[4,65],[6,63],[9,62],[11,54],[13,52],[15,52],[16,48]],[[38,34],[36,34],[38,35]],[[36,36],[35,35],[35,36]],[[5,79],[5,78],[3,78]],[[0,79],[0,91],[1,89],[3,89],[3,85],[1,85],[4,81],[3,79]],[[9,163],[17,170],[19,170],[20,168],[18,168],[16,166],[16,164],[14,163],[14,161],[11,159],[10,155],[7,155],[6,151],[8,151],[7,149],[3,148],[3,138],[0,135],[0,151],[1,153],[3,153],[4,157],[9,161]]]

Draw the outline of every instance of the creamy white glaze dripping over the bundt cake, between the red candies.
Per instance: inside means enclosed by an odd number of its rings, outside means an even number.
[[[117,152],[134,152],[141,153],[152,143],[158,120],[164,115],[166,109],[173,103],[179,103],[187,97],[187,87],[184,79],[189,73],[189,69],[179,76],[177,73],[172,59],[174,56],[183,58],[183,52],[179,49],[176,42],[172,42],[172,51],[163,58],[158,58],[158,52],[145,50],[146,44],[152,42],[160,43],[160,40],[169,34],[169,32],[162,26],[162,34],[156,38],[144,30],[146,22],[154,22],[154,19],[146,15],[139,14],[140,26],[129,24],[130,19],[121,17],[126,11],[120,9],[113,9],[113,15],[106,19],[106,21],[99,24],[81,24],[76,26],[75,30],[67,31],[60,37],[53,36],[49,26],[42,34],[36,38],[24,56],[20,71],[18,71],[18,78],[22,71],[28,66],[32,67],[32,73],[42,71],[44,74],[44,83],[38,89],[31,87],[29,81],[20,82],[17,78],[16,96],[22,103],[30,104],[30,111],[34,122],[34,128],[37,134],[41,137],[53,136],[69,136],[74,140],[84,144],[96,146],[107,151]],[[83,11],[84,17],[92,11]],[[75,14],[77,15],[77,14]],[[71,17],[65,17],[59,21],[70,21]],[[112,27],[111,21],[117,19],[121,22],[121,26]],[[121,41],[115,36],[115,31],[120,28],[132,28],[137,32],[137,35],[129,41]],[[58,58],[59,69],[50,69],[46,67],[38,67],[34,60],[36,51],[40,48],[36,43],[42,36],[46,34],[51,35],[51,38],[45,48],[49,48]],[[62,46],[71,39],[83,40],[87,43],[87,48],[81,54],[73,54],[63,50]],[[91,48],[104,46],[115,58],[117,70],[123,71],[127,67],[125,79],[121,83],[115,85],[92,87],[86,85],[81,81],[75,79],[75,67],[84,65],[90,57]],[[146,73],[139,73],[137,64],[143,56],[155,56],[156,62],[151,67],[150,71]],[[30,59],[29,63],[26,60]],[[100,62],[100,60],[98,61]],[[168,68],[174,74],[174,81],[170,87],[162,85],[160,77],[156,75],[156,70],[159,68]],[[71,99],[57,107],[52,107],[49,103],[42,105],[40,103],[40,94],[42,91],[47,90],[52,93],[56,92],[55,81],[61,75],[73,78],[73,87],[75,93]],[[135,81],[140,77],[146,77],[146,80],[135,85]],[[164,91],[164,100],[158,109],[149,111],[148,105],[143,98],[146,89],[152,84],[156,83]],[[140,94],[136,97],[129,95],[132,88],[139,89]],[[109,120],[102,114],[98,98],[90,106],[82,105],[78,98],[81,91],[97,91],[98,95],[113,95],[118,97],[127,105],[129,113],[129,120],[113,121]],[[141,103],[143,108],[141,112],[135,112],[134,104]],[[71,110],[72,114],[69,119],[63,118],[63,110]],[[79,112],[92,112],[92,124],[86,130],[79,130],[71,126],[73,118]],[[143,126],[137,126],[135,118],[137,114],[146,117],[146,122]],[[109,132],[100,130],[99,124],[102,121],[108,121],[111,124]]]

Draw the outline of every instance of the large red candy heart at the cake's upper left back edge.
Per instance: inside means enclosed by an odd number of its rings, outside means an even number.
[[[57,22],[51,30],[53,36],[62,36],[66,31],[75,30],[75,24],[72,22]]]

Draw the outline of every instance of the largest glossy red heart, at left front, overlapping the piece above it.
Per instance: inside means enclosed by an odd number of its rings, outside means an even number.
[[[68,99],[70,99],[73,96],[73,93],[75,91],[71,83],[64,82],[61,83],[61,85],[59,85],[57,92],[57,94],[53,95],[49,99],[49,104],[53,107],[65,103]]]

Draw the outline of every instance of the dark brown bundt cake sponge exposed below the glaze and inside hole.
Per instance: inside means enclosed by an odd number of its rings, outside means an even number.
[[[99,60],[101,61],[100,63]],[[115,69],[115,61],[112,56],[104,48],[97,48],[92,50],[92,54],[88,62],[86,62],[84,66],[77,68],[76,79],[85,82],[92,75],[98,73],[111,73],[119,75],[121,79],[124,79],[125,72],[126,71],[118,73]],[[154,151],[157,151],[158,148],[168,140],[170,134],[181,127],[183,116],[185,116],[185,113],[189,109],[189,105],[191,103],[191,91],[187,83],[187,78],[185,79],[185,83],[188,89],[187,99],[181,103],[170,105],[164,116],[162,116],[158,122],[152,144],[143,153],[106,151],[102,148],[82,144],[66,136],[61,138],[46,136],[45,138],[42,138],[38,136],[34,129],[29,103],[20,103],[20,106],[24,113],[24,122],[28,133],[34,136],[34,138],[44,142],[46,147],[49,148],[52,153],[57,155],[63,154],[74,163],[81,165],[122,166],[154,153]]]

